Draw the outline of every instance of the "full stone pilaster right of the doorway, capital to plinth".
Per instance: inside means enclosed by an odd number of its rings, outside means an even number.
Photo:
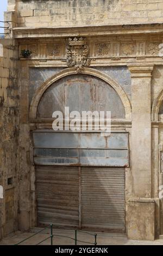
[[[151,175],[151,72],[153,66],[129,66],[132,87],[132,198],[127,220],[130,239],[154,240],[155,203]]]

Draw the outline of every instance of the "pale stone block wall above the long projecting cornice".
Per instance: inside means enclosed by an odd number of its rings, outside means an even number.
[[[162,0],[10,0],[19,27],[122,25],[163,21]]]

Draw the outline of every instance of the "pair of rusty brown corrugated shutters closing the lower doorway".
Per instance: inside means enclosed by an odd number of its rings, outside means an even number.
[[[124,168],[37,166],[37,223],[125,231]]]

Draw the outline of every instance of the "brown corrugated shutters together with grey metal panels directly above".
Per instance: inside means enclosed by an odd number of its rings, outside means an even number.
[[[124,233],[128,133],[33,134],[38,224]]]

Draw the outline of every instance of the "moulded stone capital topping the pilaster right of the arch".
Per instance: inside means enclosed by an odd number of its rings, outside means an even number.
[[[154,65],[129,65],[131,77],[151,77]]]

